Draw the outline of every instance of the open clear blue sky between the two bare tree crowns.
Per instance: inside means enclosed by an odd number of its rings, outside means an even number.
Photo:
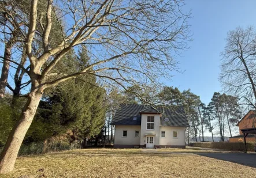
[[[180,90],[191,89],[199,95],[203,103],[208,104],[214,92],[222,92],[218,74],[220,73],[220,52],[225,47],[227,32],[237,26],[256,28],[256,1],[238,0],[191,0],[185,1],[185,12],[192,10],[189,20],[193,39],[190,49],[176,59],[184,74],[173,73],[168,86],[177,86]]]

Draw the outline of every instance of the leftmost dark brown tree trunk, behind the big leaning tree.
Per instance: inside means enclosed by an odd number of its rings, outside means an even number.
[[[10,52],[12,50],[12,45],[10,43],[6,43],[5,45],[5,54],[3,57],[3,67],[2,67],[2,73],[0,78],[0,99],[2,99],[3,96],[5,96],[5,88],[7,85],[7,79],[9,74],[9,68],[10,68]]]

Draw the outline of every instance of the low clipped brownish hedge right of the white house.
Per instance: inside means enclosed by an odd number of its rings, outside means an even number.
[[[208,147],[212,149],[224,149],[224,150],[235,150],[235,151],[244,151],[244,143],[243,142],[197,142],[190,143],[190,146],[196,147]],[[246,143],[247,151],[254,152],[254,143]]]

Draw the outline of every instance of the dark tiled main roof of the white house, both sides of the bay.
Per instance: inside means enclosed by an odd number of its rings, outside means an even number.
[[[114,115],[112,125],[140,125],[140,113],[162,113],[160,126],[189,126],[183,107],[179,107],[176,111],[171,111],[162,107],[153,108],[150,105],[141,104],[121,104]],[[133,118],[137,119],[133,120]],[[169,120],[165,121],[165,118],[169,118]]]

